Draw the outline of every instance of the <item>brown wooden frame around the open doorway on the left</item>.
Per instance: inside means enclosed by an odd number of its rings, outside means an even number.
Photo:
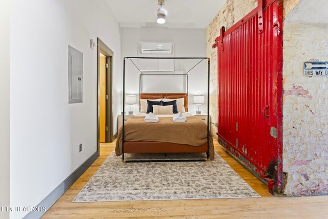
[[[99,121],[100,121],[100,55],[106,56],[106,94],[109,98],[106,101],[106,142],[113,142],[113,57],[114,52],[97,37],[97,150],[99,150]]]

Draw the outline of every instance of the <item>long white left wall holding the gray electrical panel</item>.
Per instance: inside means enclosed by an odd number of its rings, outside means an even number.
[[[105,0],[11,3],[10,206],[36,206],[96,151],[97,53],[89,42],[99,37],[114,52],[115,106],[120,28]],[[68,104],[69,45],[84,55],[78,104]]]

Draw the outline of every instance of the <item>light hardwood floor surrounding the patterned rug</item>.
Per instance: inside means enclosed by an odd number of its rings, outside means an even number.
[[[261,197],[72,203],[73,198],[115,149],[114,143],[106,143],[101,144],[98,159],[42,218],[327,218],[328,196],[272,196],[268,187],[227,154],[216,140],[214,147]]]

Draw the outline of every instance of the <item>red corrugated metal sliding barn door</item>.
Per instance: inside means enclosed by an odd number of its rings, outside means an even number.
[[[216,38],[218,139],[252,172],[282,187],[282,1],[258,8]]]

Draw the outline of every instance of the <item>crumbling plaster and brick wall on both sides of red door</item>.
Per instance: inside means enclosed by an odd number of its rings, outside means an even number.
[[[283,2],[284,19],[301,1],[306,0]],[[212,121],[217,121],[217,49],[212,45],[222,26],[229,29],[255,7],[257,0],[228,0],[207,28]],[[327,194],[328,77],[303,76],[303,62],[328,61],[327,35],[327,24],[283,24],[283,193],[288,196]],[[212,132],[217,136],[216,127]]]

